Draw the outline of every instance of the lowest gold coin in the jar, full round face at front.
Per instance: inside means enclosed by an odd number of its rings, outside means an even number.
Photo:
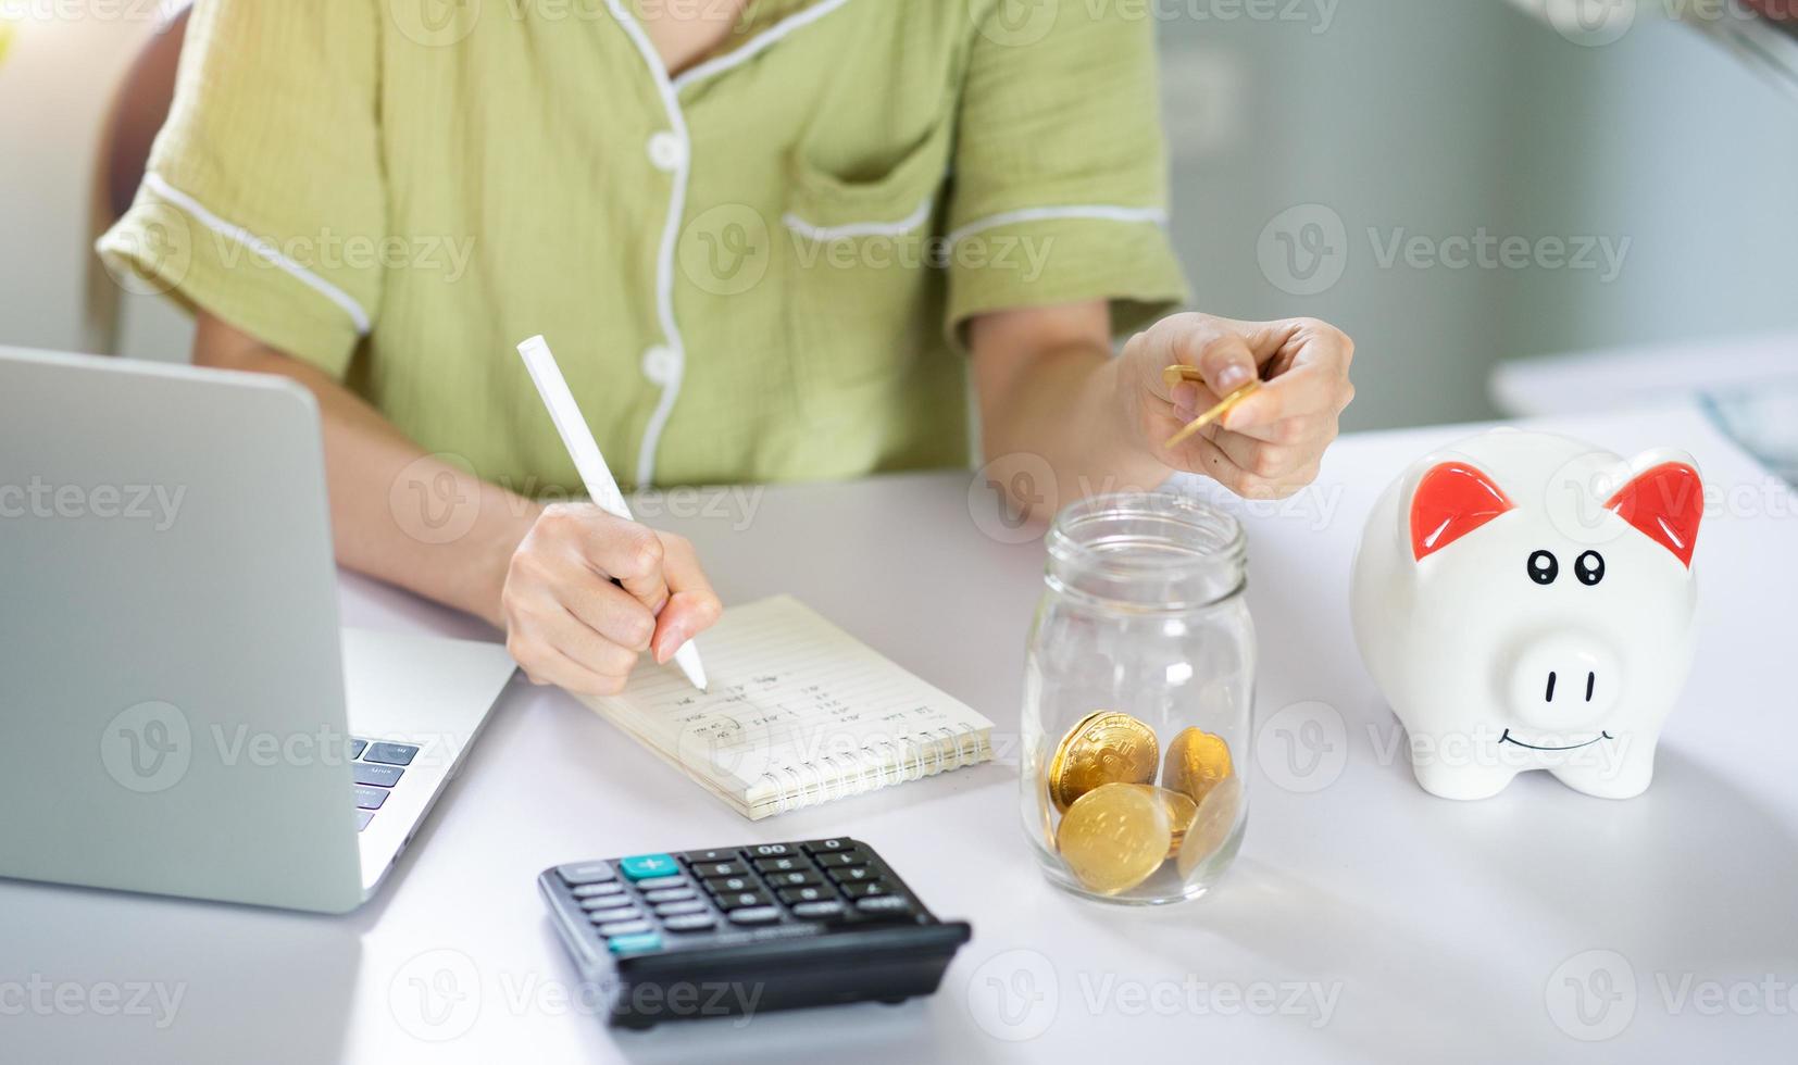
[[[1100,785],[1081,796],[1055,832],[1055,848],[1099,894],[1129,891],[1167,860],[1167,805],[1154,788]]]

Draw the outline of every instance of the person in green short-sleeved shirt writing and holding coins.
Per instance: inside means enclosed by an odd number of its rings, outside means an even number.
[[[1169,314],[1153,47],[1057,0],[200,0],[99,251],[196,312],[196,363],[318,397],[342,564],[608,693],[719,603],[678,537],[545,503],[579,478],[530,334],[636,487],[964,465],[969,384],[1000,483],[1316,474],[1348,339]]]

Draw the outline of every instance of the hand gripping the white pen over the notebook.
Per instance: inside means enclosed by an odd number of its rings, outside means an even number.
[[[685,537],[592,503],[545,506],[500,591],[505,648],[530,682],[581,695],[617,695],[642,652],[665,663],[721,612]]]

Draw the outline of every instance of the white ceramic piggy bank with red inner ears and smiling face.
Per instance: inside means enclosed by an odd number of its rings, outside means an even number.
[[[1622,460],[1492,429],[1413,465],[1354,560],[1356,643],[1424,790],[1496,796],[1546,769],[1640,796],[1692,665],[1692,458]]]

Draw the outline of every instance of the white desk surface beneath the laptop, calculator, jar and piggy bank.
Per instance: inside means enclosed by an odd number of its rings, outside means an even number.
[[[1642,799],[1543,774],[1474,805],[1417,788],[1350,641],[1347,573],[1377,490],[1456,431],[1350,436],[1302,503],[1251,519],[1253,814],[1206,900],[1127,911],[1050,889],[1010,765],[750,824],[572,699],[520,682],[396,880],[349,918],[0,882],[0,1060],[1789,1061],[1793,499],[1694,413],[1557,426],[1625,453],[1688,447],[1721,488],[1699,541],[1697,668]],[[969,481],[789,487],[744,530],[743,508],[662,524],[699,544],[726,602],[800,594],[987,713],[1009,753],[1043,557],[982,532],[991,492]],[[343,605],[347,623],[475,634],[360,578]],[[1309,776],[1287,760],[1295,738]],[[939,916],[973,921],[935,997],[647,1034],[570,1002],[539,869],[834,833],[877,846]],[[430,1027],[414,981],[439,970],[458,999]],[[70,1008],[22,1009],[34,979],[76,986]],[[142,984],[180,993],[173,1015],[101,1015],[106,986],[128,1004]]]

